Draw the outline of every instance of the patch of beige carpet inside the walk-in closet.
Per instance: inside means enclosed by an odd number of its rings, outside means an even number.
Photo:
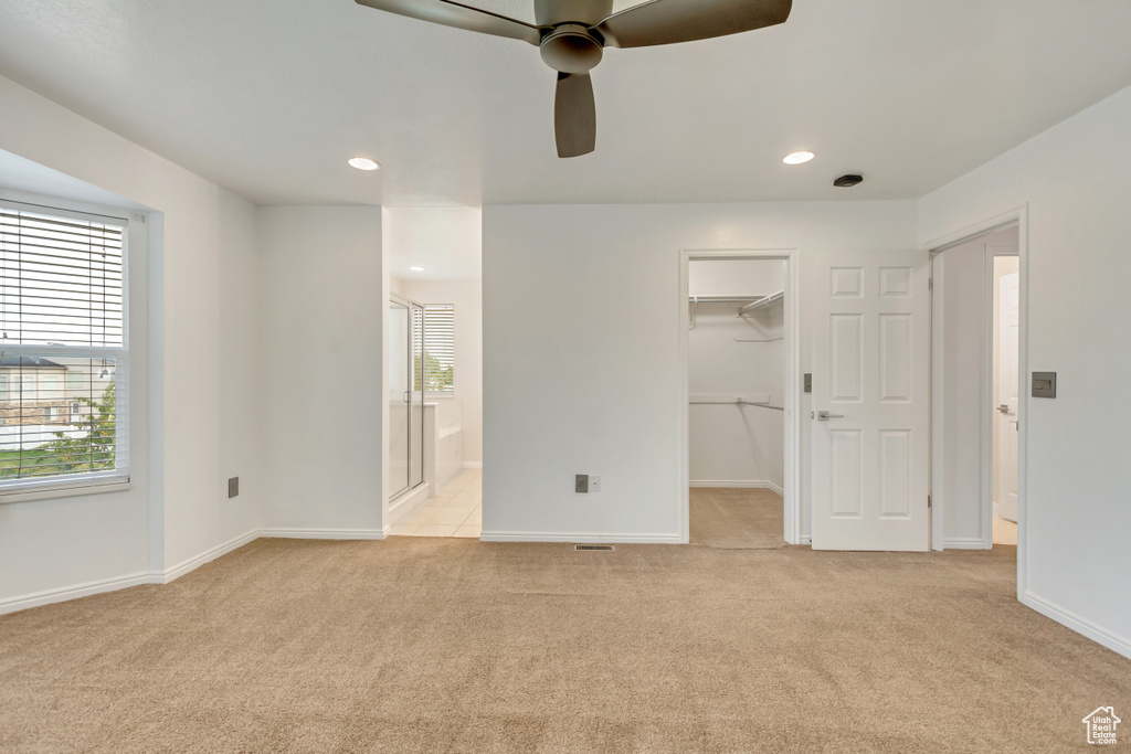
[[[771,489],[691,488],[691,544],[720,549],[785,547],[782,496]]]

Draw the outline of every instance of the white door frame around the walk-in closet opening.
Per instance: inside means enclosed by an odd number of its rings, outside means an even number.
[[[802,544],[801,539],[801,267],[797,249],[684,249],[680,251],[680,287],[675,307],[676,333],[680,364],[680,536],[681,541],[691,538],[691,437],[690,437],[690,383],[688,353],[688,296],[691,260],[737,260],[758,259],[785,261],[785,495],[783,497],[785,526],[783,539],[791,545]]]

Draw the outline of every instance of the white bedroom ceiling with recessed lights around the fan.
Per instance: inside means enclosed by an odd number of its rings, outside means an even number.
[[[1129,38],[1128,0],[795,0],[608,50],[597,150],[561,161],[554,72],[513,40],[352,0],[0,3],[0,73],[262,205],[917,198],[1131,85]]]

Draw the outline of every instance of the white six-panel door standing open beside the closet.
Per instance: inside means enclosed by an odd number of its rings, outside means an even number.
[[[925,551],[927,253],[841,255],[818,274],[813,548]]]

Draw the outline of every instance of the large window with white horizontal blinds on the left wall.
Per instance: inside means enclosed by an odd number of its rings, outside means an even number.
[[[129,479],[126,248],[126,220],[0,202],[0,494]]]

